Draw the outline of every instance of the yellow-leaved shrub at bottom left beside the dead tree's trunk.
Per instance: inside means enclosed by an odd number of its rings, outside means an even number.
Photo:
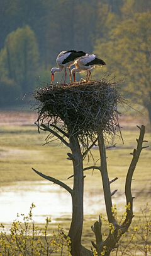
[[[45,227],[38,228],[32,218],[32,209],[30,207],[28,216],[23,216],[24,222],[19,220],[13,221],[10,234],[7,235],[3,224],[1,224],[0,256],[24,256],[24,255],[50,255],[57,253],[62,255],[67,252],[70,255],[70,238],[64,235],[64,231],[58,226],[58,233],[52,231],[52,236],[48,235],[48,225],[51,219],[47,217]]]

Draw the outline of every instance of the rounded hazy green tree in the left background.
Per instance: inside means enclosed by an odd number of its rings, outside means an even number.
[[[33,30],[26,25],[8,34],[0,58],[3,81],[13,80],[27,92],[28,81],[34,81],[39,66],[39,51]]]

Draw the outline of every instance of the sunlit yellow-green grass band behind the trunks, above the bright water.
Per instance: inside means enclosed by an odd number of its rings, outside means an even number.
[[[0,161],[1,161],[1,181],[0,185],[10,185],[16,181],[35,181],[42,180],[31,168],[35,168],[43,173],[55,176],[60,180],[67,180],[72,174],[72,163],[67,160],[67,149],[60,142],[53,141],[47,145],[45,143],[46,134],[43,131],[38,133],[36,126],[1,126],[0,127]],[[118,137],[114,138],[111,143],[116,143],[116,147],[106,150],[108,157],[109,178],[113,179],[118,176],[120,182],[116,181],[118,188],[123,188],[126,177],[126,171],[131,161],[130,153],[137,146],[139,130],[122,132],[124,145]],[[150,133],[145,133],[145,140],[151,145]],[[92,149],[92,155],[95,161],[99,159],[98,148]],[[143,149],[140,159],[135,170],[133,189],[149,192],[150,181],[150,147]],[[98,161],[99,164],[99,161]],[[92,165],[92,157],[89,162],[84,161],[84,166]],[[98,186],[98,171],[86,171],[88,186],[94,182]],[[70,180],[67,181],[70,183]],[[115,183],[113,183],[115,185]],[[114,188],[113,188],[114,189]]]

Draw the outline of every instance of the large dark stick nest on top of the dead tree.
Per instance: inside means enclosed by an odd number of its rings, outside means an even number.
[[[88,141],[94,141],[98,129],[106,137],[120,129],[117,106],[122,100],[115,82],[47,85],[39,88],[34,97],[38,121],[48,123],[53,129],[57,126],[69,136],[77,134],[84,147]]]

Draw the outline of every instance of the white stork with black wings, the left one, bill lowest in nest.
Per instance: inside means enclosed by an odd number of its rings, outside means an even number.
[[[63,68],[65,69],[65,78],[67,75],[66,68],[69,68],[69,76],[70,76],[70,66],[72,66],[77,59],[81,58],[81,56],[84,56],[84,55],[86,55],[86,52],[82,52],[82,51],[71,50],[71,51],[60,52],[59,56],[57,56],[57,59],[56,59],[56,62],[59,68],[52,68],[51,70],[51,73],[52,73],[51,83],[53,84],[54,73],[62,71]],[[65,84],[65,78],[64,78],[64,84]],[[70,82],[71,82],[71,76],[70,76]]]

